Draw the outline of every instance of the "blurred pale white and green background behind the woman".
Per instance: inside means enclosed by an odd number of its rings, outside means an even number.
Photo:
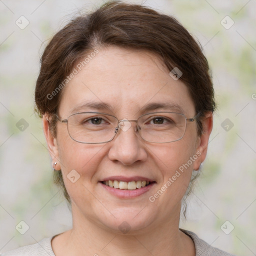
[[[218,110],[180,227],[236,255],[256,255],[256,1],[129,2],[176,17],[200,41],[212,70]],[[71,227],[65,199],[52,184],[33,93],[45,42],[79,9],[101,3],[0,1],[0,252]],[[21,220],[29,226],[23,235],[15,229]]]

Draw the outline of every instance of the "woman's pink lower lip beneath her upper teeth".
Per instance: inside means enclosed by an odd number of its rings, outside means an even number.
[[[111,179],[109,179],[109,180],[111,180]],[[134,179],[132,179],[132,180],[134,180]],[[141,180],[141,179],[138,179],[138,180]],[[146,180],[146,179],[143,179],[143,180]],[[122,180],[122,181],[125,181],[125,180]],[[128,189],[118,189],[118,188],[110,187],[101,182],[98,182],[98,183],[104,189],[106,189],[106,191],[108,191],[110,194],[112,194],[116,197],[119,197],[119,198],[126,198],[126,199],[137,197],[137,196],[149,191],[156,184],[156,182],[153,182],[144,187],[136,188],[134,190],[128,190]]]

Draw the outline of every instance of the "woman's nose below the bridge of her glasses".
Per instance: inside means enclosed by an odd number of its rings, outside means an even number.
[[[123,165],[146,160],[144,141],[137,132],[135,120],[120,120],[117,134],[108,143],[110,143],[108,151],[110,160],[118,160]]]

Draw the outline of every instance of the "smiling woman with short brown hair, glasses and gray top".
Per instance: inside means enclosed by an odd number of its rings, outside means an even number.
[[[35,102],[73,226],[3,255],[230,255],[179,229],[215,103],[174,18],[121,2],[74,18],[44,50]]]

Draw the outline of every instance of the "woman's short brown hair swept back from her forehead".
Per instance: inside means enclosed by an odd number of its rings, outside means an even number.
[[[95,11],[74,17],[58,31],[47,44],[42,57],[40,73],[35,87],[36,110],[57,113],[61,91],[52,92],[70,74],[74,64],[97,46],[118,46],[156,53],[169,70],[181,70],[181,79],[199,113],[197,133],[202,133],[200,117],[215,110],[214,90],[208,62],[202,47],[173,17],[161,14],[149,7],[110,1]],[[56,135],[54,120],[51,122]],[[61,171],[54,172],[55,183],[64,187]]]

